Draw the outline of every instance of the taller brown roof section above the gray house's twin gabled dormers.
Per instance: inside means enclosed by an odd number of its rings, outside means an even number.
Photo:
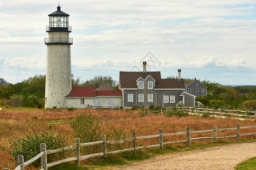
[[[127,72],[120,71],[119,73],[119,88],[137,88],[136,80],[140,77],[145,79],[146,76],[151,75],[153,79],[160,80],[160,71],[150,71],[150,72]]]

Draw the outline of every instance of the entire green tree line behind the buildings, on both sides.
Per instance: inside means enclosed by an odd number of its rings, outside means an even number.
[[[176,78],[169,76],[167,78]],[[189,82],[190,78],[184,78]],[[197,97],[209,108],[241,108],[256,110],[256,86],[223,86],[219,83],[199,80],[207,87],[207,96]],[[72,86],[87,86],[98,88],[103,84],[118,90],[117,82],[111,76],[95,76],[92,79],[83,81],[72,75]],[[23,107],[44,107],[45,97],[45,75],[35,75],[20,83],[0,86],[0,106],[23,106]]]

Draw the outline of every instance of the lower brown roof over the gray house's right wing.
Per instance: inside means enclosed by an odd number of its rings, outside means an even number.
[[[185,88],[183,79],[160,79],[155,88]]]

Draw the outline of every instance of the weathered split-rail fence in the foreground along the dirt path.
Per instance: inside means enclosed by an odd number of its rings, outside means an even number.
[[[206,140],[206,139],[212,139],[213,142],[217,142],[217,139],[223,139],[223,138],[237,138],[237,140],[240,140],[241,136],[244,135],[256,135],[256,130],[254,133],[240,133],[240,129],[247,129],[247,128],[256,128],[256,126],[244,126],[240,127],[240,124],[237,124],[236,128],[226,128],[226,129],[217,129],[216,125],[213,125],[213,129],[210,130],[200,130],[200,131],[190,131],[190,127],[187,127],[185,131],[177,132],[177,133],[163,133],[162,129],[159,129],[159,134],[154,135],[148,135],[148,136],[141,136],[136,137],[136,133],[132,133],[132,138],[123,139],[120,141],[106,141],[106,135],[102,136],[101,141],[96,142],[90,142],[90,143],[80,143],[79,138],[75,138],[75,143],[72,146],[64,147],[64,148],[58,148],[56,150],[47,150],[47,146],[45,143],[41,143],[40,145],[40,153],[36,155],[34,158],[28,160],[27,162],[24,162],[23,155],[19,155],[17,158],[17,165],[18,167],[15,168],[15,170],[23,170],[28,165],[35,162],[37,159],[41,159],[41,167],[40,170],[47,170],[49,167],[53,167],[54,165],[72,162],[74,161],[77,165],[79,165],[81,160],[94,158],[94,157],[100,157],[103,156],[103,158],[106,158],[107,155],[110,154],[119,154],[123,152],[135,152],[136,150],[141,150],[144,148],[152,148],[152,147],[159,147],[160,149],[163,149],[163,145],[170,145],[174,143],[187,143],[187,146],[190,146],[191,141],[199,141],[199,140]],[[226,131],[226,130],[236,130],[236,135],[230,135],[230,136],[224,136],[224,137],[218,137],[217,131]],[[211,137],[200,137],[200,138],[191,138],[190,134],[194,133],[209,133],[212,132]],[[167,136],[174,136],[174,135],[186,135],[186,139],[182,141],[169,141],[169,142],[163,142],[163,137]],[[149,145],[149,146],[137,146],[137,140],[138,139],[150,139],[150,138],[158,138],[159,142],[155,145]],[[124,150],[118,150],[118,151],[107,151],[107,145],[113,145],[118,143],[126,143],[126,142],[132,142],[132,148],[127,148]],[[90,154],[90,155],[80,155],[80,148],[85,146],[95,146],[95,145],[101,145],[102,146],[102,152],[96,153],[96,154]],[[68,150],[74,150],[74,157],[72,158],[66,158],[62,160],[58,160],[56,162],[48,163],[47,162],[47,156],[49,154],[54,154],[61,151],[68,151]],[[4,169],[3,169],[4,170]],[[5,168],[7,170],[7,168]]]

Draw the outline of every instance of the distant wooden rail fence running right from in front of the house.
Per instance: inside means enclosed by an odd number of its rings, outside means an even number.
[[[173,112],[173,111],[175,110],[161,109],[161,111],[149,111],[149,112],[144,111],[144,115],[153,116],[153,115],[165,114],[166,112]],[[229,117],[229,118],[232,117],[232,118],[237,118],[237,119],[240,118],[245,120],[247,120],[247,118],[254,117],[254,120],[256,121],[256,111],[251,112],[251,111],[241,111],[240,109],[230,110],[230,109],[221,109],[221,108],[208,109],[208,108],[199,108],[199,107],[178,107],[177,111],[188,112],[190,114],[199,115],[199,116],[203,116],[203,114],[208,114],[211,117],[215,117],[215,116]],[[152,114],[148,114],[148,113],[152,113]],[[249,114],[253,114],[253,115],[249,115]],[[244,117],[244,118],[241,118],[241,117]]]

